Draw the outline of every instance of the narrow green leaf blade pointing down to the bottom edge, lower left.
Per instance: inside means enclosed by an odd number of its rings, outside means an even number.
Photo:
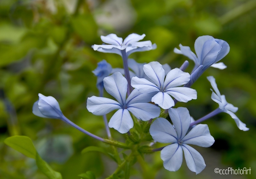
[[[59,172],[54,171],[39,155],[36,153],[36,165],[50,179],[62,179]]]

